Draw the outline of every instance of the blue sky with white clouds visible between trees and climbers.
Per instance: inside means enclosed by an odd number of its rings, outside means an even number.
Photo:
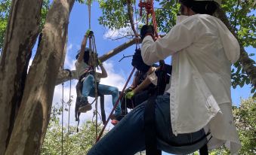
[[[109,50],[113,50],[113,48],[118,47],[120,44],[123,44],[127,39],[121,39],[118,41],[109,40],[109,37],[115,37],[117,35],[116,31],[111,31],[109,29],[104,28],[98,22],[98,17],[101,15],[101,11],[97,2],[94,2],[91,6],[91,30],[94,31],[94,36],[96,40],[97,52],[99,56],[102,56],[104,53],[107,53]],[[68,69],[75,69],[75,56],[77,51],[80,48],[80,44],[82,42],[82,38],[85,35],[85,32],[88,29],[88,7],[87,5],[81,5],[78,2],[72,8],[72,12],[69,17],[69,32],[68,32],[68,45],[66,52],[66,60],[65,67]],[[131,31],[127,28],[122,29],[122,32]],[[111,59],[108,59],[106,62],[103,62],[104,67],[108,73],[108,77],[101,79],[101,84],[107,84],[110,86],[118,87],[119,90],[122,90],[122,87],[125,85],[125,81],[128,78],[128,75],[131,73],[131,57],[123,59],[119,62],[119,59],[122,58],[123,54],[125,56],[132,55],[135,50],[135,45],[129,47],[124,50],[122,53],[113,56]],[[253,53],[255,51],[254,48],[249,47],[246,48],[248,53]],[[253,57],[255,60],[255,56]],[[170,64],[170,59],[167,59],[165,62]],[[74,117],[74,108],[75,108],[75,100],[76,100],[76,80],[72,80],[71,86],[71,96],[72,96],[72,106],[70,111],[70,121],[72,125],[76,125],[75,117]],[[131,82],[130,82],[131,84]],[[63,84],[64,90],[62,89],[62,85],[58,85],[54,90],[54,99],[53,105],[61,106],[62,96],[64,96],[64,102],[69,100],[69,81]],[[247,99],[250,94],[250,86],[245,87],[237,87],[235,90],[231,89],[232,99],[234,105],[239,105],[240,99]],[[64,94],[62,94],[62,91]],[[89,98],[89,102],[93,99]],[[67,107],[66,107],[67,108]],[[94,108],[94,105],[93,105]],[[106,116],[108,116],[109,112],[112,110],[112,98],[111,96],[105,96],[105,110]],[[85,122],[86,120],[91,120],[93,115],[93,110],[88,111],[85,114],[80,116],[81,122]],[[64,113],[64,124],[67,125],[68,121],[68,113]],[[111,129],[113,126],[111,123],[107,126],[107,129]],[[168,153],[163,153],[168,154]]]

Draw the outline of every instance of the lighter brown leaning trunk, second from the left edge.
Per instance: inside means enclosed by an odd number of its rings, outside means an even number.
[[[48,12],[42,41],[26,78],[20,111],[6,155],[39,154],[50,119],[51,102],[73,3],[74,0],[54,0]]]

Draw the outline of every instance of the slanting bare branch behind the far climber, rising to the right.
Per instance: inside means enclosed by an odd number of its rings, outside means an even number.
[[[121,44],[119,47],[116,47],[113,50],[110,50],[108,53],[104,54],[103,56],[100,56],[99,59],[101,62],[106,61],[107,59],[111,58],[112,56],[115,56],[116,54],[122,52],[122,50],[125,50],[126,48],[130,47],[131,45],[135,44],[135,39],[131,39],[130,41],[126,41],[124,44]],[[76,70],[71,71],[71,79],[77,78]],[[57,81],[56,85],[61,84],[63,82],[69,81],[69,71],[66,70],[60,70],[57,75]]]

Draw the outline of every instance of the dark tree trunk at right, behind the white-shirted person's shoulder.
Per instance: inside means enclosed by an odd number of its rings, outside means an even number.
[[[227,19],[227,16],[225,14],[225,11],[222,8],[218,8],[216,15],[221,21],[227,26],[228,29],[230,29],[230,32],[233,33],[233,35],[236,37],[236,39],[239,41],[235,30],[230,24],[230,21]],[[250,59],[248,56],[248,53],[246,53],[245,48],[242,47],[242,44],[240,44],[240,57],[239,62],[242,64],[242,68],[245,70],[246,74],[248,75],[248,78],[251,80],[251,84],[256,87],[256,67],[254,66],[255,62],[253,59]]]

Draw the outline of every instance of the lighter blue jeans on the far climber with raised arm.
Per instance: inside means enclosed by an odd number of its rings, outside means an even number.
[[[98,84],[98,92],[102,95],[111,95],[113,106],[116,104],[117,99],[119,99],[119,89],[116,87]],[[95,96],[94,76],[92,74],[88,74],[88,76],[83,81],[82,96],[84,97]],[[120,102],[116,106],[115,114],[117,115],[121,114]]]

